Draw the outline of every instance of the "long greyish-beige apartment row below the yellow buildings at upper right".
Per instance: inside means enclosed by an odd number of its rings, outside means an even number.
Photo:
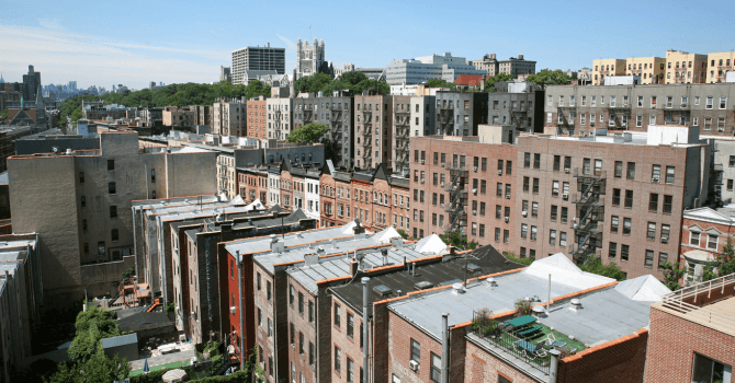
[[[735,131],[733,96],[732,83],[551,85],[544,126],[559,135],[585,135],[593,128],[646,131],[651,125],[686,125],[702,135],[728,137]]]

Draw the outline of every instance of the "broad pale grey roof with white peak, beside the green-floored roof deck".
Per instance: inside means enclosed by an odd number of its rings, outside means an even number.
[[[399,316],[415,323],[437,339],[441,336],[441,313],[448,312],[449,325],[472,321],[473,311],[488,307],[494,313],[512,311],[517,300],[538,297],[545,300],[549,293],[549,274],[552,275],[551,297],[570,294],[588,288],[613,282],[614,279],[579,270],[562,253],[540,259],[519,272],[496,277],[497,286],[475,281],[466,291],[439,290],[407,298],[389,304]]]

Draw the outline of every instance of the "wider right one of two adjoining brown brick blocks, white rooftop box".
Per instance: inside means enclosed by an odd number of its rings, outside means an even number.
[[[663,277],[678,258],[683,210],[706,200],[712,149],[696,127],[519,137],[513,253],[596,256],[629,278]]]

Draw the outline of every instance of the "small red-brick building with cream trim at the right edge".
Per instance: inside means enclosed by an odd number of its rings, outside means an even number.
[[[701,282],[708,263],[725,254],[735,234],[735,205],[685,210],[681,229],[681,259],[686,282]]]

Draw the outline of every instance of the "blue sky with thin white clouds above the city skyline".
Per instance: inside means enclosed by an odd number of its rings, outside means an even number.
[[[0,72],[79,88],[150,81],[210,83],[231,51],[325,40],[337,66],[392,59],[523,54],[536,70],[591,67],[597,58],[666,57],[667,49],[735,49],[735,1],[0,1]],[[310,27],[310,30],[309,30]]]

